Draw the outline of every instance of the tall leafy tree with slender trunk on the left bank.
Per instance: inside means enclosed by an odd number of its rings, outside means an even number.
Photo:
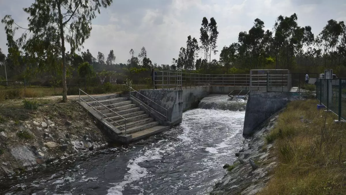
[[[42,51],[51,50],[53,56],[62,57],[63,101],[67,100],[65,42],[70,43],[71,53],[90,36],[91,21],[100,13],[100,7],[107,8],[112,0],[35,0],[30,7],[24,8],[29,14],[28,32],[22,34],[19,43],[23,49],[35,57],[44,58]],[[10,15],[2,21],[5,30],[22,28]],[[7,32],[8,34],[9,32]],[[29,35],[31,34],[31,36]],[[27,37],[30,37],[26,40]]]

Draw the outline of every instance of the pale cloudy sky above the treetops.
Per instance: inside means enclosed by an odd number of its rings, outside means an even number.
[[[19,25],[27,25],[22,10],[34,0],[0,0],[1,19],[9,14]],[[256,18],[273,29],[278,16],[298,15],[298,25],[312,27],[316,35],[329,19],[346,22],[345,0],[113,0],[92,21],[91,36],[83,44],[94,57],[100,51],[107,58],[114,50],[115,63],[126,63],[129,51],[136,55],[144,46],[153,63],[171,64],[189,35],[199,40],[202,18],[214,17],[219,31],[217,54],[237,42],[240,31],[248,31]],[[0,24],[0,48],[7,54],[4,25]],[[66,48],[67,50],[69,48]],[[202,56],[200,54],[200,56]]]

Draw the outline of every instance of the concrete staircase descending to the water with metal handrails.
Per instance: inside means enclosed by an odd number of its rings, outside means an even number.
[[[153,117],[150,117],[149,113],[146,113],[145,110],[141,109],[133,101],[129,100],[128,97],[120,97],[118,94],[112,94],[96,96],[93,98],[99,102],[90,97],[82,97],[82,99],[87,103],[82,101],[81,104],[83,107],[86,107],[89,112],[93,112],[94,116],[95,113],[99,115],[96,116],[99,120],[103,120],[104,122],[107,121],[106,124],[111,125],[111,129],[118,129],[116,134],[120,137],[128,137],[130,135],[131,138],[127,138],[128,141],[126,142],[137,141],[170,129],[169,126],[160,125],[160,122],[156,121]],[[118,113],[118,115],[103,107],[100,103]],[[100,111],[104,116],[96,110]],[[126,133],[123,128],[125,127],[125,119],[119,115],[127,119]]]

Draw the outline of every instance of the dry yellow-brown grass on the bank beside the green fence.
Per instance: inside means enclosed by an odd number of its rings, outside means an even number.
[[[346,125],[317,104],[291,102],[266,136],[279,166],[260,194],[346,194]]]

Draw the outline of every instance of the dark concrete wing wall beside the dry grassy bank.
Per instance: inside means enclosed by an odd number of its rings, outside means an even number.
[[[251,135],[262,122],[294,100],[303,100],[303,97],[292,92],[251,91],[246,103],[243,135]]]

